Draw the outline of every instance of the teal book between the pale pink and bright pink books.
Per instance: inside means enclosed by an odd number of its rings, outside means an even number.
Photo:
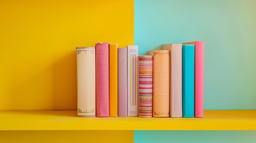
[[[195,45],[182,45],[182,115],[195,112]]]

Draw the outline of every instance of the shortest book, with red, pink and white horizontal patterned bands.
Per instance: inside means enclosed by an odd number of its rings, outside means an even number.
[[[153,56],[139,56],[139,117],[152,117]]]

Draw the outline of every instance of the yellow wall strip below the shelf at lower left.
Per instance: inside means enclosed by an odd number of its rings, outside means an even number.
[[[133,131],[0,131],[1,143],[133,143]]]

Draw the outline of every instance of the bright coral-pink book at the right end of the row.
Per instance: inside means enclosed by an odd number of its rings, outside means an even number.
[[[204,42],[186,42],[195,45],[195,117],[203,117],[204,111]]]

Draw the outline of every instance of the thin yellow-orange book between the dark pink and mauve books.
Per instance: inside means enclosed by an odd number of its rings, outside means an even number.
[[[117,117],[118,111],[118,44],[109,44],[109,112],[110,117]]]

